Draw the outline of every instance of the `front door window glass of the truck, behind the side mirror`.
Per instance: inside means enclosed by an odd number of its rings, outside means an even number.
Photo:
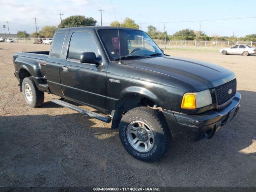
[[[92,34],[88,32],[74,32],[70,40],[68,59],[80,60],[80,55],[83,52],[94,52],[96,56],[100,54]]]

